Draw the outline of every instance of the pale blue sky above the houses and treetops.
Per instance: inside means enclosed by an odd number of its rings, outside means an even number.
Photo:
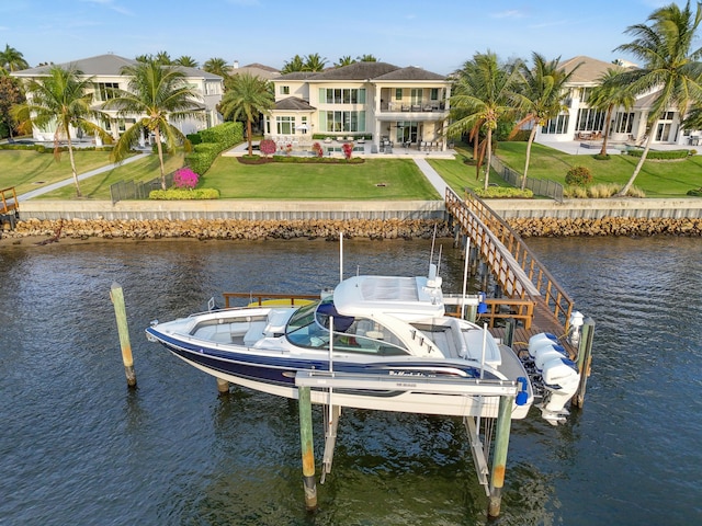
[[[373,55],[395,66],[448,75],[475,53],[562,60],[615,52],[626,28],[670,1],[657,0],[0,0],[0,49],[31,67],[102,54],[167,52],[280,69],[295,55]],[[680,5],[684,3],[677,2]],[[694,7],[694,1],[692,5]],[[697,43],[697,47],[700,43]]]

